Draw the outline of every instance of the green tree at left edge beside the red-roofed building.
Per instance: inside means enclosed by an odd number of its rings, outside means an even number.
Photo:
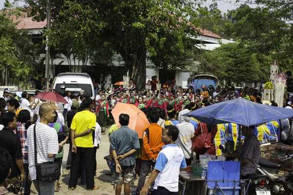
[[[2,85],[18,84],[28,81],[34,74],[36,45],[26,38],[27,32],[16,28],[19,9],[5,1],[5,8],[0,13],[0,71]],[[11,77],[9,77],[11,76]]]

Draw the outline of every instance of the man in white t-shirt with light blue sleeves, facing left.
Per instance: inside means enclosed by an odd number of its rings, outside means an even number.
[[[154,170],[146,181],[140,195],[146,195],[155,181],[155,195],[178,195],[179,172],[187,167],[183,151],[175,144],[179,135],[176,126],[168,125],[162,134],[165,144],[156,161]]]

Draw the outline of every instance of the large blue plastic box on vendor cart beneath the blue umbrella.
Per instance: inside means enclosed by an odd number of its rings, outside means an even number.
[[[224,166],[223,166],[224,165]],[[223,168],[224,167],[224,168]],[[207,180],[208,186],[215,187],[216,183],[209,180],[217,180],[217,184],[220,187],[236,187],[239,186],[239,182],[236,184],[233,182],[240,179],[240,162],[234,161],[209,161]],[[223,180],[225,180],[223,182]],[[229,181],[226,181],[229,180]]]

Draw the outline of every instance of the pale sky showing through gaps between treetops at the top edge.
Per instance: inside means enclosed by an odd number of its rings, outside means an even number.
[[[10,2],[12,2],[13,0],[10,0]],[[4,2],[5,0],[0,0],[0,9],[4,7]],[[232,10],[232,9],[236,9],[239,5],[239,3],[235,3],[236,0],[217,0],[218,3],[218,8],[223,12],[223,13],[227,13],[227,10]],[[24,0],[19,1],[19,6],[23,6],[24,5]],[[209,7],[209,4],[212,3],[212,0],[207,0],[206,2],[204,2],[204,5],[206,5],[207,7]],[[255,5],[251,5],[251,7],[256,7]]]

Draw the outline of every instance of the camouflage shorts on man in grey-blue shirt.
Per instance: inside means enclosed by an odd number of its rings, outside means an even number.
[[[123,183],[133,183],[134,174],[135,174],[135,166],[121,166],[122,172],[116,172],[116,166],[113,166],[113,177],[115,180],[115,184],[123,184]]]

